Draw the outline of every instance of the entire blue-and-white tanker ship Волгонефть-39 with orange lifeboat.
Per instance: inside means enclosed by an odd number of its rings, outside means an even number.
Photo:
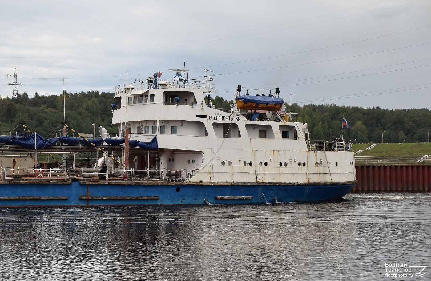
[[[0,136],[0,206],[322,201],[355,185],[351,144],[311,141],[278,88],[238,86],[231,109],[217,109],[212,77],[169,70],[116,87],[118,136]]]

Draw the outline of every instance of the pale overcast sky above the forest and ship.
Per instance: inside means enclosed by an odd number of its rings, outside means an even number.
[[[0,95],[113,92],[212,72],[217,94],[431,108],[431,0],[2,1]],[[250,94],[269,93],[249,90]]]

